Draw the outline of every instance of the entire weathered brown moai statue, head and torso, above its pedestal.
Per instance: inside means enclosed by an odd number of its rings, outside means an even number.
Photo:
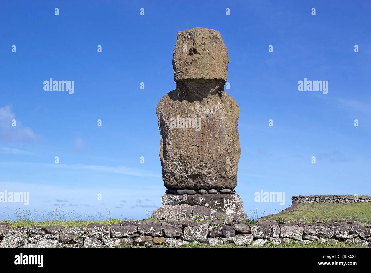
[[[167,189],[233,189],[240,158],[239,107],[224,91],[229,62],[220,33],[180,31],[175,90],[157,105],[162,179]]]

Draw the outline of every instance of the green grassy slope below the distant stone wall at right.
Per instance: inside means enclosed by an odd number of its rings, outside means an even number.
[[[270,221],[304,221],[313,222],[322,219],[324,223],[329,220],[349,220],[359,223],[371,221],[371,203],[331,204],[331,203],[299,203],[293,211],[282,211],[265,217]]]

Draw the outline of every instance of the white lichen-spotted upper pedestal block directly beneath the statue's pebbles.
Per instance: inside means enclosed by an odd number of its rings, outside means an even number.
[[[162,204],[203,206],[217,212],[236,213],[241,215],[243,219],[247,218],[247,215],[243,212],[242,199],[237,194],[195,194],[188,195],[186,199],[181,195],[166,194],[162,196]]]

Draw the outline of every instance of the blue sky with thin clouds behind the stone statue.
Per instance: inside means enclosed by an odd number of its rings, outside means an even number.
[[[228,48],[247,214],[282,210],[293,195],[371,194],[369,1],[131,2],[1,4],[0,191],[29,191],[30,204],[2,202],[0,218],[109,207],[142,219],[160,207],[155,108],[175,88],[176,33],[192,27],[219,30]],[[74,80],[74,94],[44,91],[49,78]],[[304,78],[328,80],[328,94],[298,91]],[[260,190],[285,192],[285,205],[255,202]]]

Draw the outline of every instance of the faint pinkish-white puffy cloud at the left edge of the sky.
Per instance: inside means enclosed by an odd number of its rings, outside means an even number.
[[[12,120],[16,120],[16,126],[12,126]],[[37,135],[29,127],[23,127],[22,123],[15,118],[12,107],[0,108],[0,139],[6,142],[25,141],[36,139]]]

